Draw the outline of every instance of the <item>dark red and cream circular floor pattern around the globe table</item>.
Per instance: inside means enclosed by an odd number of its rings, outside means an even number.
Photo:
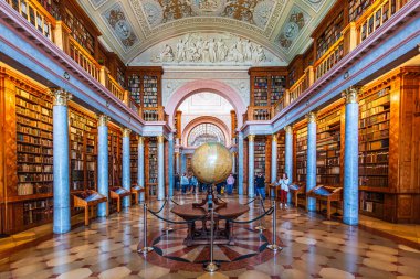
[[[183,244],[186,235],[186,227],[178,228],[169,235],[156,233],[149,244],[154,247],[154,251],[144,256],[145,259],[150,264],[170,269],[202,271],[203,265],[210,260],[210,246],[187,247]],[[221,270],[234,270],[263,264],[275,256],[275,253],[267,248],[271,239],[272,234],[269,230],[260,234],[249,227],[237,227],[234,246],[214,245],[214,261],[219,264]],[[276,242],[282,246],[280,238]],[[141,247],[143,243],[139,243],[138,248]]]

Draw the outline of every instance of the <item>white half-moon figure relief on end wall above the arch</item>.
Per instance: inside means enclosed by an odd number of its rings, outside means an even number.
[[[230,33],[188,33],[150,47],[132,65],[281,65],[279,57]]]

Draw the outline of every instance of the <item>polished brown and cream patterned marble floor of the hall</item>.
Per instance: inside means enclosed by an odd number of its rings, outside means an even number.
[[[197,198],[178,196],[175,201]],[[156,211],[161,204],[153,202],[150,208]],[[265,208],[270,205],[266,201]],[[259,207],[250,206],[242,219],[259,215]],[[168,212],[164,208],[160,215]],[[0,278],[420,278],[420,250],[416,248],[300,208],[277,208],[276,215],[280,253],[266,249],[272,239],[272,216],[266,216],[263,225],[269,229],[261,235],[252,230],[255,224],[243,224],[238,226],[237,246],[216,246],[220,270],[212,275],[202,271],[208,246],[183,247],[185,225],[172,225],[176,230],[166,235],[161,232],[166,224],[150,214],[148,244],[157,249],[146,257],[138,254],[143,207],[134,206],[11,254],[0,265]],[[176,219],[172,214],[169,218]]]

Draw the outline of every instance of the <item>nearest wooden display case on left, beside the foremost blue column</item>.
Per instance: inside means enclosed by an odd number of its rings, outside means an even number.
[[[95,206],[99,203],[106,204],[106,215],[108,215],[108,198],[101,195],[99,193],[93,190],[86,190],[78,193],[73,193],[73,206],[82,207],[85,211],[85,226],[88,226],[90,218],[95,216]],[[91,211],[90,211],[91,208]],[[91,215],[91,216],[90,216]]]

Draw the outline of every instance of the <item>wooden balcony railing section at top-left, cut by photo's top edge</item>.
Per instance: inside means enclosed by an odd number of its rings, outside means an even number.
[[[55,19],[36,0],[6,0],[14,10],[35,26],[44,36],[53,41]]]

